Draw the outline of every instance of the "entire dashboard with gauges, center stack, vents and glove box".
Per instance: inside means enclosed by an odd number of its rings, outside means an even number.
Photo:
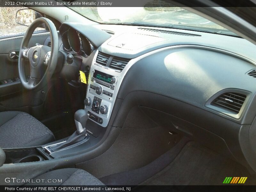
[[[157,124],[256,170],[248,138],[256,116],[255,45],[234,36],[125,25],[63,23],[60,35],[60,50],[90,68],[84,109],[93,123],[122,127],[139,106]]]

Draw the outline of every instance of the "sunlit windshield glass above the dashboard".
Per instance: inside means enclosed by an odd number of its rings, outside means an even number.
[[[228,29],[181,7],[69,8],[99,23],[179,28],[237,36]]]

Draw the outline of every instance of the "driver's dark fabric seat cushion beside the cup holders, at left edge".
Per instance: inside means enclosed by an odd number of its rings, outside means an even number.
[[[0,147],[21,148],[50,143],[53,133],[40,121],[25,112],[0,112]]]

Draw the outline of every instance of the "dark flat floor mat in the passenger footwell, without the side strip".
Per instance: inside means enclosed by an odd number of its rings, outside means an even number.
[[[248,177],[245,184],[256,184],[241,164],[188,142],[171,164],[141,185],[221,185],[226,177]]]

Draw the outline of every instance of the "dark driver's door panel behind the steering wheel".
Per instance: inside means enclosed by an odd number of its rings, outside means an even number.
[[[23,36],[17,34],[16,37],[0,39],[0,111],[18,110],[29,112],[26,108],[35,107],[42,104],[38,93],[26,91],[19,81],[18,60],[11,60],[10,52],[20,50]],[[34,34],[28,46],[35,46],[36,43],[44,44],[49,37],[49,33]],[[1,36],[3,38],[3,36]],[[26,74],[29,75],[29,62],[26,65]],[[33,105],[31,105],[31,103]]]

